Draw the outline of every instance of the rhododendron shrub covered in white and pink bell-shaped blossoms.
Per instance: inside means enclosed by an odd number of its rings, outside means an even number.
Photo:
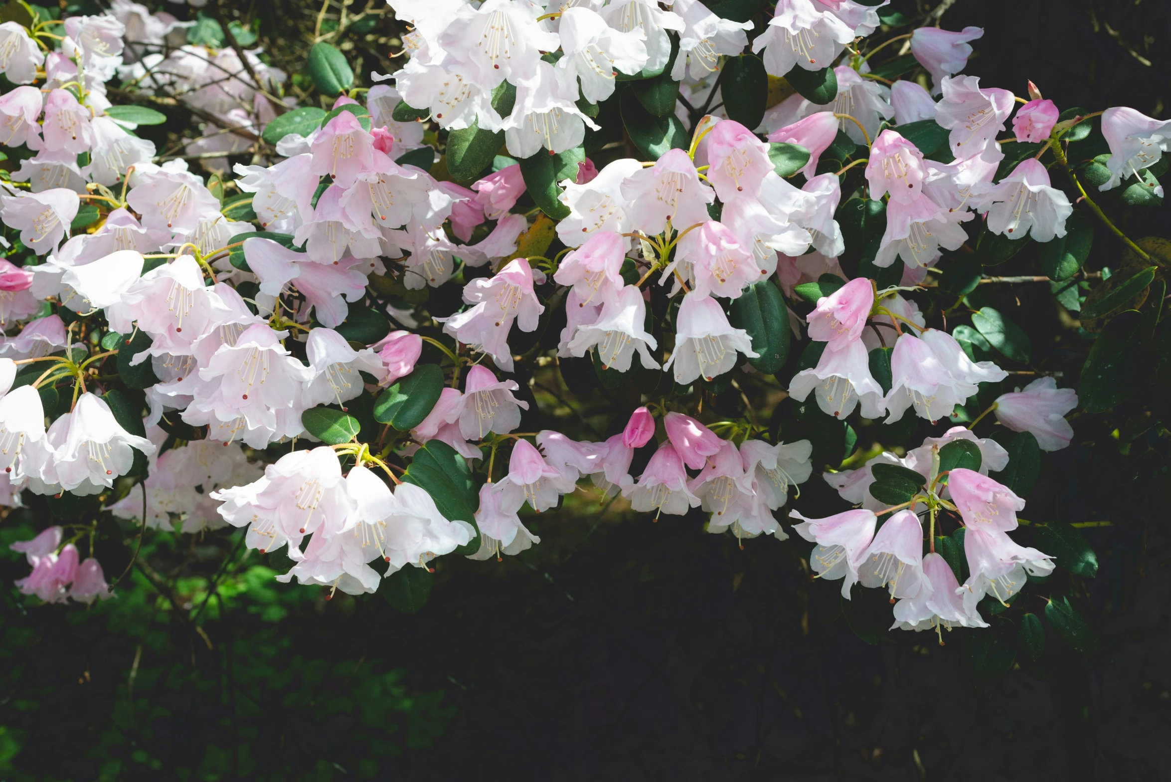
[[[200,536],[417,611],[593,500],[799,557],[871,643],[1094,651],[1030,492],[1166,451],[1171,254],[1118,214],[1171,124],[981,83],[977,27],[748,5],[390,0],[397,70],[322,16],[295,77],[211,16],[6,16],[19,590],[102,606],[95,540]]]

